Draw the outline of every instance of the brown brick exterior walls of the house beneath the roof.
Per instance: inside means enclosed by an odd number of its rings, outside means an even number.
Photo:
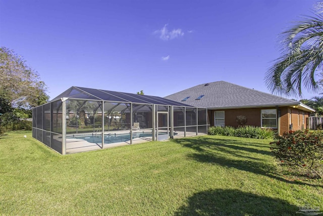
[[[214,125],[214,111],[225,111],[225,125],[238,127],[239,124],[236,121],[238,115],[244,115],[247,117],[247,122],[244,125],[261,126],[261,110],[262,109],[277,109],[277,107],[263,107],[263,108],[242,108],[242,109],[219,109],[219,110],[208,110],[208,116],[210,120],[210,126]],[[277,118],[280,112],[280,135],[284,132],[305,129],[306,128],[306,118],[309,113],[292,107],[279,107]],[[291,115],[290,115],[291,112]],[[304,113],[304,123],[303,123],[303,113]],[[290,121],[291,116],[291,121]],[[292,127],[290,127],[290,122]],[[278,129],[278,128],[277,128]]]

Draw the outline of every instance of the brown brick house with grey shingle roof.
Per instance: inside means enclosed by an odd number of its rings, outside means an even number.
[[[253,125],[276,129],[280,135],[306,128],[306,118],[315,112],[301,102],[226,81],[199,84],[165,98],[207,108],[211,126]]]

